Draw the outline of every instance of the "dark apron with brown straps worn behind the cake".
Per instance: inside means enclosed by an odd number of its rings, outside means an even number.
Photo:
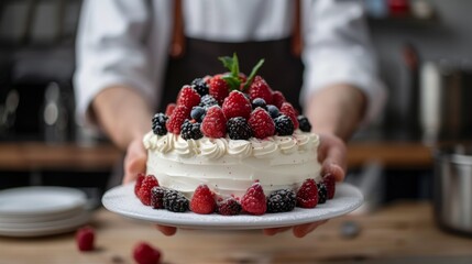
[[[158,110],[165,111],[167,103],[176,101],[182,86],[190,84],[195,78],[227,72],[218,57],[231,56],[233,53],[238,54],[240,72],[246,75],[251,73],[252,67],[259,59],[265,58],[259,75],[265,78],[273,90],[282,91],[287,101],[301,110],[299,92],[304,66],[299,58],[298,4],[297,1],[297,15],[293,36],[276,41],[221,43],[184,37],[182,3],[177,1],[173,36],[173,47],[177,45],[177,48],[172,51],[168,59],[165,86]]]

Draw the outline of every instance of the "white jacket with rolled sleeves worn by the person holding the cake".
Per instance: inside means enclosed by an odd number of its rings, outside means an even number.
[[[145,0],[85,0],[74,76],[79,121],[88,120],[94,97],[112,85],[133,87],[156,107],[168,59],[173,1],[152,0],[153,10],[149,7]],[[215,42],[281,40],[293,32],[294,9],[292,0],[184,0],[185,35]],[[312,92],[342,82],[365,92],[367,119],[381,111],[385,89],[363,15],[360,1],[301,0],[301,105]]]

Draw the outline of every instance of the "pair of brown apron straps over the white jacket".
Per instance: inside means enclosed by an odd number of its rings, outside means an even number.
[[[295,19],[292,33],[292,54],[295,57],[300,57],[303,51],[301,38],[301,4],[300,0],[295,0]],[[182,10],[182,0],[174,0],[174,19],[171,43],[171,57],[179,58],[185,53],[185,33],[184,33],[184,15]]]

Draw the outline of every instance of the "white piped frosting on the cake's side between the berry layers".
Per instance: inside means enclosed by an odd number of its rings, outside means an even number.
[[[320,180],[319,138],[300,130],[263,140],[184,140],[173,133],[156,135],[151,131],[143,143],[147,150],[146,174],[155,175],[161,186],[188,198],[201,184],[218,196],[241,197],[256,180],[266,194],[296,189],[307,178]]]

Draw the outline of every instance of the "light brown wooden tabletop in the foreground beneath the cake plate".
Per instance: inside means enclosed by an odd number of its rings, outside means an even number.
[[[355,238],[340,227],[361,227]],[[332,219],[304,239],[289,232],[265,237],[253,231],[179,230],[164,237],[149,223],[100,209],[91,222],[97,250],[80,253],[74,233],[37,238],[0,237],[0,263],[133,263],[132,248],[146,241],[164,263],[472,263],[472,238],[440,231],[427,202],[399,202],[365,216]]]

